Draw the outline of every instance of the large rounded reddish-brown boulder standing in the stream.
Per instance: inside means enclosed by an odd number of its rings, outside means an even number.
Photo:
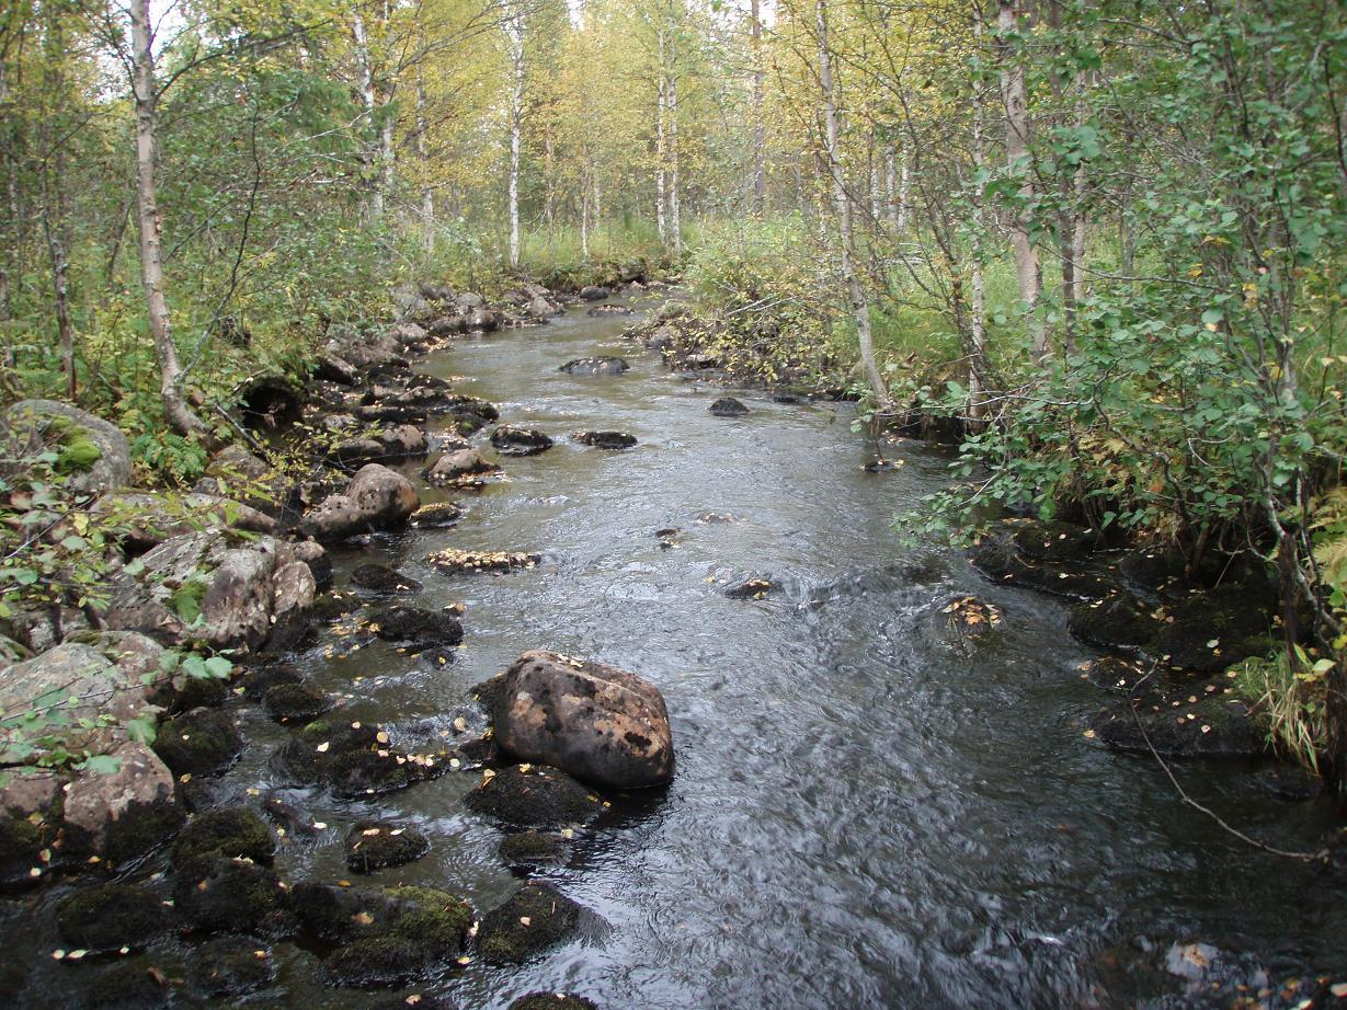
[[[501,747],[597,785],[667,782],[674,738],[659,689],[591,660],[533,650],[505,673],[496,716]]]

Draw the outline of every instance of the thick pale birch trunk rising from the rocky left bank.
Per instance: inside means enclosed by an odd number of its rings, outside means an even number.
[[[145,290],[150,334],[159,362],[164,416],[182,435],[206,434],[206,426],[193,413],[182,395],[182,365],[172,341],[168,302],[164,299],[163,252],[160,248],[159,205],[155,199],[155,113],[159,93],[155,85],[154,35],[150,0],[131,0],[132,90],[136,104],[136,220],[140,224],[140,280]]]

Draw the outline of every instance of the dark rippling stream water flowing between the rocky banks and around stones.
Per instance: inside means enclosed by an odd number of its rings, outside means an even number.
[[[353,718],[399,726],[477,719],[469,688],[533,648],[630,669],[668,702],[672,785],[617,800],[550,874],[597,913],[590,928],[521,968],[474,963],[420,988],[462,1007],[540,988],[613,1010],[1131,1006],[1181,992],[1162,974],[1164,951],[1192,939],[1251,951],[1274,972],[1347,974],[1342,877],[1237,842],[1185,807],[1153,762],[1083,739],[1078,719],[1105,699],[1080,680],[1094,653],[1067,637],[1061,605],[989,584],[947,547],[901,545],[892,518],[946,482],[943,454],[905,443],[901,467],[863,471],[872,447],[845,404],[745,393],[749,416],[714,417],[707,405],[723,391],[621,343],[626,322],[572,312],[419,365],[465,376],[461,392],[558,444],[506,461],[508,482],[459,496],[467,513],[455,529],[337,552],[338,584],[356,563],[387,560],[424,583],[412,602],[462,602],[466,648],[454,664],[383,644],[326,659],[321,642],[298,657]],[[598,353],[633,368],[558,372]],[[585,428],[640,444],[605,452],[564,438]],[[707,513],[729,521],[699,521]],[[655,531],[669,527],[683,533],[664,549]],[[505,576],[424,564],[450,545],[540,551],[544,562]],[[725,579],[748,575],[783,591],[723,597]],[[943,632],[940,607],[956,594],[1005,613],[971,656]],[[290,731],[253,706],[238,715],[252,746],[221,788],[245,797],[276,784],[267,757]],[[1320,801],[1270,799],[1257,769],[1177,773],[1286,847],[1313,847],[1334,823]],[[277,866],[291,879],[345,877],[349,824],[400,817],[434,848],[372,882],[459,890],[485,912],[519,881],[496,854],[497,827],[462,808],[478,778],[450,774],[369,804],[288,790],[330,827],[283,848]],[[38,922],[40,952],[55,940]],[[276,986],[252,1005],[373,999],[325,986],[317,959],[288,944],[276,959]],[[44,971],[48,1005],[77,1006],[94,978]]]

